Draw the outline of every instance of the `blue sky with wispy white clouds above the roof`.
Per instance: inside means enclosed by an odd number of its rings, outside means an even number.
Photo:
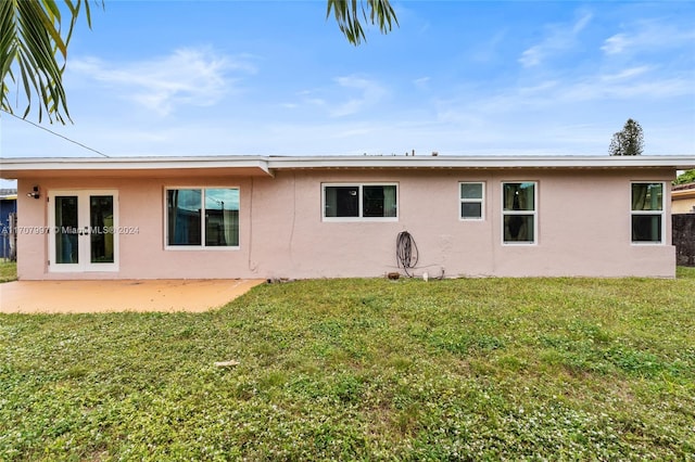
[[[695,2],[393,7],[353,47],[323,0],[106,0],[70,49],[74,124],[42,125],[110,156],[607,155],[631,117],[644,154],[695,153]],[[0,137],[97,156],[7,114]]]

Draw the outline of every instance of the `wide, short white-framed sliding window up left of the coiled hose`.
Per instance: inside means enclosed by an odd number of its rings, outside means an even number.
[[[324,221],[397,220],[396,184],[324,184]]]

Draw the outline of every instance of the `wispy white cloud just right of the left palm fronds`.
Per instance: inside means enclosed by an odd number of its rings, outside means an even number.
[[[235,60],[193,48],[123,64],[94,57],[72,60],[70,68],[114,87],[121,97],[163,116],[179,105],[213,105],[233,90],[237,80],[229,76],[230,72],[238,75],[256,72],[248,56]]]

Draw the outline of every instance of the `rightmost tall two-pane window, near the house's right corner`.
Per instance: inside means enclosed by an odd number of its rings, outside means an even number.
[[[632,183],[632,242],[664,242],[664,183]]]

